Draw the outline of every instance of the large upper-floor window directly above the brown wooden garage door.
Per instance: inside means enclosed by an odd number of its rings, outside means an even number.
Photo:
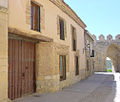
[[[31,29],[40,32],[40,6],[31,2]]]

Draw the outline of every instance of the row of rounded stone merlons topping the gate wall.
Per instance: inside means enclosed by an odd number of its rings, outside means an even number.
[[[97,40],[97,41],[120,41],[120,34],[116,35],[115,36],[115,39],[113,39],[113,36],[111,34],[109,34],[106,38],[103,34],[101,34],[98,39],[95,35],[92,35],[94,40]]]

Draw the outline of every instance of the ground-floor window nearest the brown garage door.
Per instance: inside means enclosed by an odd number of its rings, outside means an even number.
[[[60,81],[66,79],[66,56],[60,55]]]

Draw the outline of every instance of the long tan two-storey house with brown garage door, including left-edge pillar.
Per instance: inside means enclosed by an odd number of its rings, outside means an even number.
[[[0,102],[84,79],[85,28],[63,0],[0,1]]]

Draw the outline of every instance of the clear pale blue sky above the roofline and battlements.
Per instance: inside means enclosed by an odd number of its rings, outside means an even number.
[[[64,0],[91,34],[120,34],[120,0]]]

